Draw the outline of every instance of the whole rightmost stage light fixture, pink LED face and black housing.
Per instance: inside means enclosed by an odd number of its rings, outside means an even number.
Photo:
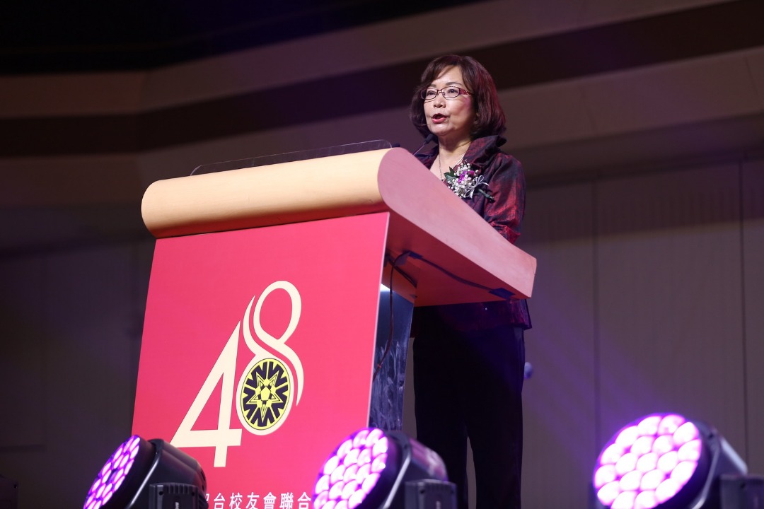
[[[597,509],[719,509],[720,476],[745,462],[700,421],[650,414],[618,431],[594,466]]]

